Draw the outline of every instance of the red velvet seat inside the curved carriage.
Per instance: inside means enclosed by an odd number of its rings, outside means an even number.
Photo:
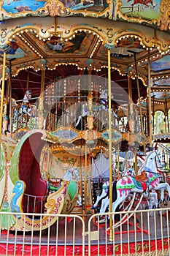
[[[20,150],[19,176],[26,183],[26,195],[23,197],[24,212],[43,213],[45,210],[47,182],[42,180],[39,170],[41,151],[45,144],[41,137],[40,132],[31,135]]]

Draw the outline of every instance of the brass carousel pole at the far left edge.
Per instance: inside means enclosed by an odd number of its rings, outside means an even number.
[[[0,146],[1,146],[1,128],[2,128],[2,121],[3,121],[3,103],[4,103],[4,80],[5,80],[5,70],[6,70],[6,56],[7,53],[4,52],[3,58],[3,70],[2,70],[2,83],[1,83],[1,112],[0,112]]]

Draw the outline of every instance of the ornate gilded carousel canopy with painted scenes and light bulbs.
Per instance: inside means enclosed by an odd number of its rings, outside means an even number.
[[[0,61],[5,50],[12,97],[23,99],[26,89],[39,97],[42,69],[45,86],[58,78],[88,75],[89,67],[92,75],[105,78],[107,48],[115,97],[123,99],[120,87],[128,93],[131,75],[132,97],[137,102],[136,72],[140,97],[147,97],[148,59],[153,91],[169,90],[169,18],[163,10],[160,1],[118,0],[115,8],[107,1],[3,1]]]

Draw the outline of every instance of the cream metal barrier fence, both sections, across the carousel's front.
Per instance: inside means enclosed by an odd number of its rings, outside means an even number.
[[[47,229],[24,229],[20,219],[15,218],[15,228],[0,233],[0,255],[69,256],[69,255],[170,255],[169,210],[117,212],[116,214],[93,214],[87,217],[64,214],[27,214],[31,222],[45,215],[49,225]],[[23,213],[0,213],[0,225],[6,219],[6,225],[14,217],[23,217]],[[50,226],[50,218],[56,222]],[[109,219],[113,220],[110,233]]]

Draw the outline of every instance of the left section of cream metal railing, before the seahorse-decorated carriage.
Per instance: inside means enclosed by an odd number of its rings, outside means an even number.
[[[9,225],[12,218],[16,220],[15,226],[10,230],[1,229],[1,256],[66,256],[76,255],[77,250],[80,251],[80,255],[85,255],[85,222],[81,217],[73,214],[72,216],[65,214],[26,214],[32,222],[36,222],[36,219],[41,220],[45,216],[48,217],[49,226],[47,229],[42,230],[40,225],[40,230],[36,231],[34,228],[25,230],[20,227],[20,218],[24,216],[23,213],[1,212],[0,225],[4,223],[5,219],[7,225]],[[57,221],[50,227],[50,218],[53,217],[57,217]]]

